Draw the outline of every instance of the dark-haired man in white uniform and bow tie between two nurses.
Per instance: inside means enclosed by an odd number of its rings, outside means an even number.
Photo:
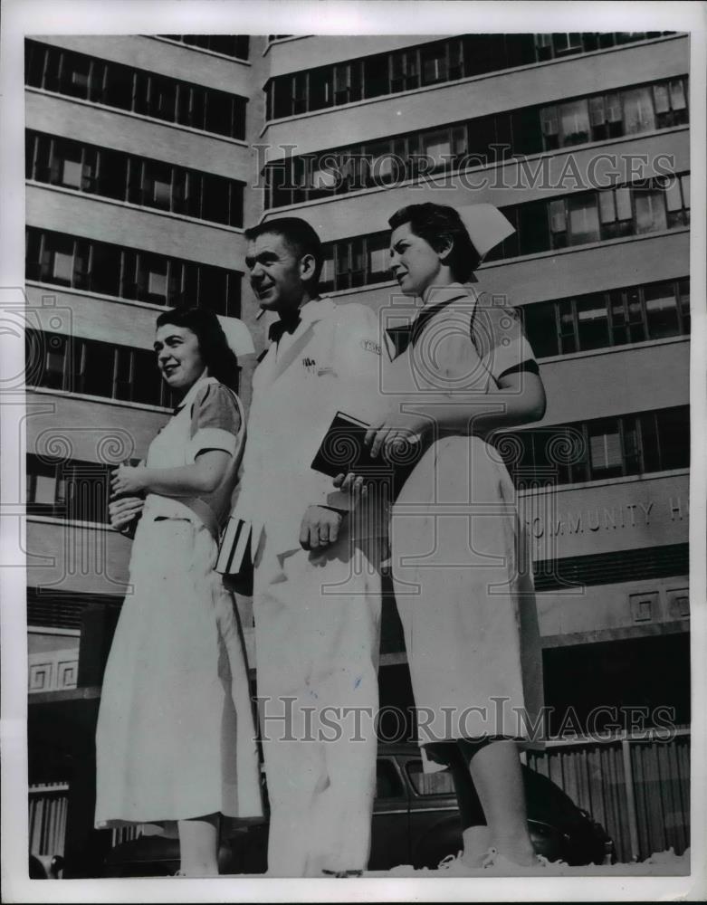
[[[377,655],[385,520],[311,468],[334,415],[368,420],[377,316],[317,291],[309,224],[247,230],[246,265],[271,344],[253,376],[240,518],[253,524],[253,614],[271,805],[268,873],[362,871],[376,786]]]

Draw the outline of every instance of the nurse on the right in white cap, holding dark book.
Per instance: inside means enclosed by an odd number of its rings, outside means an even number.
[[[456,872],[536,863],[517,742],[541,704],[524,532],[484,438],[542,417],[545,396],[517,315],[462,285],[510,224],[491,205],[465,214],[473,241],[451,207],[410,205],[389,221],[392,271],[421,310],[387,337],[391,404],[368,433],[374,455],[410,434],[425,447],[393,508],[392,571],[423,750],[453,768],[462,810],[473,777],[486,816],[483,857],[467,827]]]

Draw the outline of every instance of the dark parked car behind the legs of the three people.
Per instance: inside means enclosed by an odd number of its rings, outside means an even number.
[[[579,808],[555,783],[523,767],[530,838],[549,861],[572,865],[610,862],[613,843],[604,828]],[[480,814],[482,823],[482,814]],[[266,821],[244,824],[223,840],[222,873],[264,873],[267,868]],[[368,868],[386,871],[399,864],[435,868],[462,848],[462,824],[452,776],[425,774],[416,745],[378,748]],[[177,840],[141,836],[112,849],[106,876],[164,876],[177,871]]]

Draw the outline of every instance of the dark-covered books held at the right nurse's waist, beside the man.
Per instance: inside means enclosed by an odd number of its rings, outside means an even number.
[[[410,472],[419,462],[423,447],[416,440],[397,442],[386,455],[373,459],[365,438],[369,425],[349,414],[337,412],[312,460],[311,467],[335,478],[353,472],[390,487],[395,499]]]

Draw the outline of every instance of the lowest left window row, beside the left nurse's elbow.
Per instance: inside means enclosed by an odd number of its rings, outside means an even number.
[[[27,455],[28,515],[107,522],[109,500],[109,465]]]

